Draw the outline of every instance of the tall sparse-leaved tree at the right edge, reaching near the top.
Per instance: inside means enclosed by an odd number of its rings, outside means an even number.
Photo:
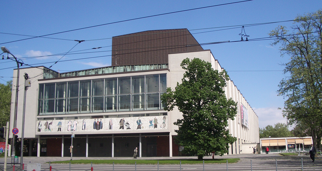
[[[322,120],[322,11],[298,16],[291,31],[279,26],[270,32],[282,56],[289,55],[278,93],[286,99],[283,116],[289,124],[305,125],[320,148]]]

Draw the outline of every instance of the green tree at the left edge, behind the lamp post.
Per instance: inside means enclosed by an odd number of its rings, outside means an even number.
[[[0,127],[6,126],[10,119],[12,81],[0,83]]]

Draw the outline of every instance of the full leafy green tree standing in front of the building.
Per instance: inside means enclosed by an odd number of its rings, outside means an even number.
[[[228,119],[233,120],[237,113],[237,104],[223,90],[229,77],[199,58],[186,58],[180,66],[186,70],[182,83],[177,83],[175,91],[168,87],[161,96],[165,110],[177,106],[182,112],[183,118],[174,122],[178,126],[175,141],[184,146],[184,153],[198,159],[211,152],[222,156],[228,152],[228,144],[236,141],[227,129]]]

